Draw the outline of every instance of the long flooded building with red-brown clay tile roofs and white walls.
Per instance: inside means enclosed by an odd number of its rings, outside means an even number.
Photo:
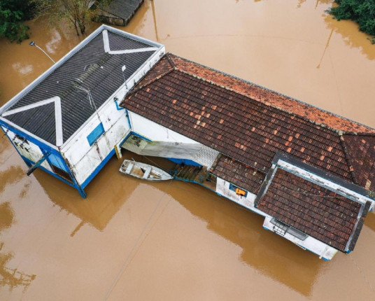
[[[375,130],[365,125],[171,54],[121,106],[138,137],[125,148],[169,158],[167,143],[183,146],[174,153],[182,156],[197,146],[187,159],[205,153],[211,163],[195,160],[206,177],[187,181],[261,214],[264,228],[325,260],[353,250],[374,210]]]

